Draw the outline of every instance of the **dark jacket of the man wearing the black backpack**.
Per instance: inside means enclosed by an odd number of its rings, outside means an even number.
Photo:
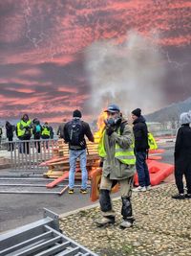
[[[81,142],[79,145],[74,146],[71,144],[70,142],[70,134],[69,134],[69,126],[71,125],[71,122],[66,123],[66,125],[64,126],[64,141],[65,143],[69,143],[69,150],[72,151],[81,151],[81,150],[85,150],[87,148],[86,146],[86,140],[84,138],[84,136],[86,135],[86,137],[89,139],[89,141],[94,142],[95,138],[93,136],[93,133],[90,129],[90,126],[88,123],[81,121],[82,124],[82,134],[81,134]]]

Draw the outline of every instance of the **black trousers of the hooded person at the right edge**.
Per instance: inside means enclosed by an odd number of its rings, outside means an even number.
[[[175,180],[180,194],[184,193],[183,175],[186,181],[187,193],[191,194],[191,164],[187,164],[184,170],[175,167]]]

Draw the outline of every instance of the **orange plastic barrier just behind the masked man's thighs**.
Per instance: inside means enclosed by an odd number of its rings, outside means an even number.
[[[99,198],[99,186],[101,181],[102,169],[96,168],[91,172],[91,194],[90,198],[92,201],[96,201]],[[112,188],[112,193],[118,191],[118,183]]]

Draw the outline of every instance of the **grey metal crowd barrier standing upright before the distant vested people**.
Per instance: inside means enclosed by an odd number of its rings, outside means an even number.
[[[3,146],[10,151],[12,170],[42,169],[39,165],[52,158],[53,149],[58,147],[56,139],[10,141]]]

